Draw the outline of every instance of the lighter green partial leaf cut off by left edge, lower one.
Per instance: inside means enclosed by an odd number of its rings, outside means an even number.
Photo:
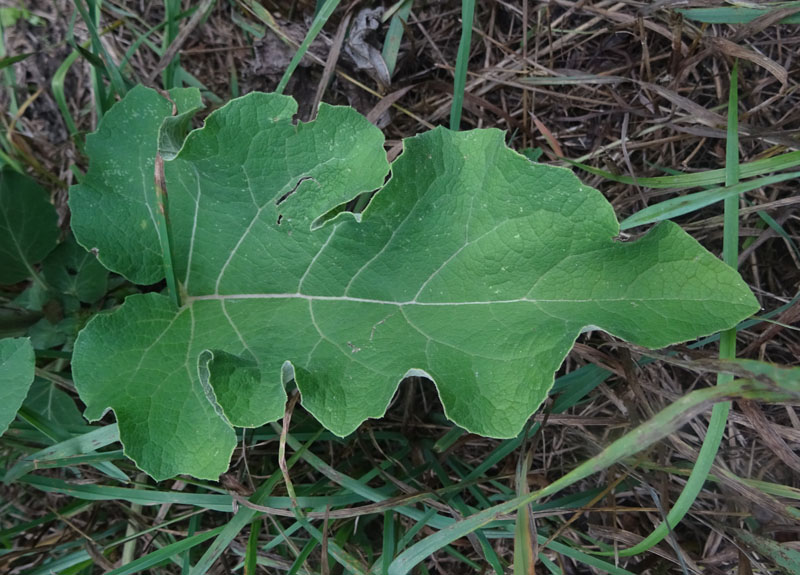
[[[0,435],[25,401],[33,383],[35,360],[28,338],[0,339]]]

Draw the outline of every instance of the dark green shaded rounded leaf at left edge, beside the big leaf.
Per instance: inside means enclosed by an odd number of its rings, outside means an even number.
[[[31,276],[58,241],[58,216],[33,179],[0,168],[0,284]]]

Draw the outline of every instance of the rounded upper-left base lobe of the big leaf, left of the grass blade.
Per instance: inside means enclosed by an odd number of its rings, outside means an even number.
[[[92,159],[83,181],[70,190],[72,230],[78,243],[97,254],[111,271],[132,282],[152,284],[164,278],[159,243],[159,208],[153,190],[159,129],[168,122],[164,144],[185,127],[201,107],[195,88],[170,91],[172,102],[137,86],[103,116],[100,129],[86,138]],[[171,148],[170,148],[170,151]]]

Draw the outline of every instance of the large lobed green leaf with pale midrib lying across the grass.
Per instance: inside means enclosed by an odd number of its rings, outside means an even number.
[[[137,88],[107,117],[142,114],[144,100],[161,109],[158,98]],[[86,416],[113,409],[127,455],[153,477],[216,478],[232,426],[280,418],[292,378],[338,435],[381,417],[400,381],[419,375],[458,425],[511,437],[587,326],[653,348],[758,309],[738,274],[672,223],[617,241],[598,191],[529,162],[498,130],[410,138],[384,184],[377,128],[350,108],[323,104],[299,124],[295,111],[291,98],[253,93],[188,135],[165,161],[181,307],[130,296],[76,342]],[[156,124],[130,126],[136,149],[155,153]],[[93,137],[108,145],[101,164],[130,155],[113,126],[104,119]],[[125,165],[129,177],[115,177],[135,179],[139,166]],[[81,189],[109,202],[95,221],[101,261],[120,251],[134,262],[144,241],[157,250],[153,227],[128,215],[150,199],[111,189],[94,157],[89,174]],[[362,215],[341,210],[374,189]]]

